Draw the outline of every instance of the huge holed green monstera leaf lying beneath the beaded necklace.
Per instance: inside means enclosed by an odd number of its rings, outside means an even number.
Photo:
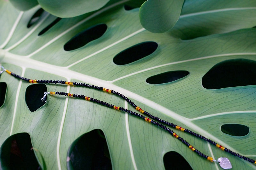
[[[126,3],[109,1],[98,11],[57,18],[40,11],[39,5],[23,12],[1,0],[1,64],[26,78],[115,90],[152,115],[255,160],[255,1],[186,0],[176,25],[161,34],[145,30],[139,9],[127,10],[131,8],[124,8]],[[27,99],[33,97],[26,91],[36,84],[5,72],[0,80],[7,84],[0,108],[0,145],[14,134],[28,133],[42,168],[69,168],[69,148],[95,129],[106,138],[113,169],[171,169],[185,162],[193,169],[220,168],[163,129],[86,100],[49,95],[46,104],[32,112]],[[108,92],[60,84],[46,87],[135,111]],[[241,133],[234,131],[237,127]],[[227,157],[234,169],[256,168],[173,130],[200,152],[214,159]],[[181,162],[173,162],[173,156],[164,161],[166,153],[181,155]]]

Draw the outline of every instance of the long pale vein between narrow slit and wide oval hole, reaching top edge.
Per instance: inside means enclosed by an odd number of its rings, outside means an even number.
[[[63,35],[65,35],[66,33],[68,33],[69,31],[71,31],[72,29],[76,28],[77,26],[80,26],[81,24],[83,24],[84,22],[88,21],[89,19],[93,18],[93,17],[96,17],[97,15],[100,15],[102,12],[105,12],[117,5],[120,5],[122,3],[125,3],[129,0],[123,0],[123,1],[120,1],[120,2],[117,2],[115,4],[112,4],[112,5],[109,5],[107,6],[106,8],[102,8],[101,10],[93,13],[92,15],[90,15],[89,17],[87,18],[84,18],[82,21],[76,23],[74,26],[68,28],[66,31],[60,33],[58,36],[54,37],[51,41],[47,42],[46,44],[44,44],[41,48],[38,48],[36,51],[34,51],[33,53],[27,55],[26,57],[31,57],[32,55],[35,55],[36,53],[38,53],[39,51],[41,51],[42,49],[46,48],[47,46],[49,46],[50,44],[52,44],[54,41],[58,40],[60,37],[62,37]]]

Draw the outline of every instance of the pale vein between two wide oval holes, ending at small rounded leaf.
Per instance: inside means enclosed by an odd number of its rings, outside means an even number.
[[[145,29],[144,29],[144,28],[141,28],[140,30],[138,30],[138,31],[136,31],[136,32],[134,32],[134,33],[131,33],[130,35],[128,35],[128,36],[126,36],[126,37],[124,37],[124,38],[122,38],[122,39],[120,39],[120,40],[118,40],[118,41],[116,41],[116,42],[114,42],[114,43],[112,43],[112,44],[110,44],[109,46],[107,46],[107,47],[105,47],[105,48],[100,49],[99,51],[96,51],[95,53],[92,53],[91,55],[88,55],[88,56],[82,58],[81,60],[78,60],[78,61],[75,62],[75,63],[70,64],[69,66],[67,66],[67,67],[65,67],[65,68],[72,67],[73,65],[76,65],[77,63],[80,63],[80,62],[82,62],[82,61],[84,61],[84,60],[86,60],[86,59],[88,59],[88,58],[90,58],[90,57],[92,57],[92,56],[94,56],[94,55],[97,55],[97,54],[101,53],[102,51],[105,51],[105,50],[107,50],[108,48],[111,48],[111,47],[115,46],[116,44],[118,44],[118,43],[120,43],[120,42],[122,42],[122,41],[125,41],[125,40],[127,40],[128,38],[131,38],[132,36],[134,36],[134,35],[136,35],[136,34],[138,34],[138,33],[141,33],[141,32],[143,32],[143,31],[145,31]]]

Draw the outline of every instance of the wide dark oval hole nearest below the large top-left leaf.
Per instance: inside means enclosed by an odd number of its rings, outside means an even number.
[[[81,33],[76,34],[65,45],[64,50],[70,51],[85,46],[87,43],[100,38],[107,30],[106,24],[91,26]]]

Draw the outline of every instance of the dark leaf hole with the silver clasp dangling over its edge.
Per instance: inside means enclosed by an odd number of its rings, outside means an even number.
[[[31,112],[36,111],[45,104],[41,100],[44,96],[44,92],[47,92],[45,84],[33,84],[27,87],[25,92],[25,101]]]

